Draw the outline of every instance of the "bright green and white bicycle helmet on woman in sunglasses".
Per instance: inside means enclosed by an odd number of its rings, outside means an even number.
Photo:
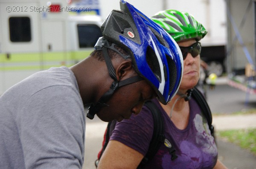
[[[150,19],[164,28],[176,42],[192,38],[199,41],[207,34],[204,26],[187,12],[170,9],[160,11]]]

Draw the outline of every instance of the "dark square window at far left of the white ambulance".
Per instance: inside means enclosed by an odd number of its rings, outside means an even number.
[[[10,17],[9,31],[11,42],[31,41],[31,25],[29,17]]]

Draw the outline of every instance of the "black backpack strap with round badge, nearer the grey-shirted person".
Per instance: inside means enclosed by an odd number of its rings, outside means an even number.
[[[154,131],[152,135],[151,142],[148,147],[148,152],[146,153],[145,157],[140,162],[140,165],[137,167],[137,169],[142,169],[145,164],[150,161],[154,155],[157,153],[158,149],[160,148],[161,144],[166,143],[166,141],[169,143],[169,141],[164,136],[164,126],[163,126],[163,117],[160,113],[160,110],[158,109],[157,105],[154,104],[152,101],[147,101],[144,104],[148,109],[151,111],[154,121]],[[174,147],[169,144],[166,146],[169,150],[169,153],[172,155],[172,160],[175,160],[177,158],[175,154]]]

